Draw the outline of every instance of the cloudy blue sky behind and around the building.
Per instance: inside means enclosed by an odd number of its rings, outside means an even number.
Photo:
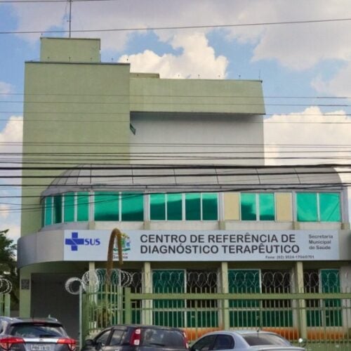
[[[0,34],[0,152],[20,151],[23,97],[15,94],[23,92],[24,62],[38,60],[41,33],[48,36],[53,35],[46,34],[48,30],[68,29],[68,8],[65,1],[0,0],[0,32],[13,32]],[[262,79],[265,139],[279,154],[283,144],[350,145],[351,20],[347,18],[351,18],[350,0],[73,1],[73,31],[251,25],[73,32],[72,37],[100,37],[102,60],[131,62],[134,72],[159,72],[162,78]],[[307,22],[253,25],[296,21]],[[67,33],[55,35],[67,37]],[[299,133],[293,133],[296,127]],[[0,190],[13,191],[13,187]],[[0,223],[18,237],[19,217],[13,204],[18,199],[0,199]]]

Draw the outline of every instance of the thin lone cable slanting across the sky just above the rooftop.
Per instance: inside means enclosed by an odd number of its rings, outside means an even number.
[[[29,0],[28,0],[29,1]],[[38,0],[32,0],[38,1]],[[81,0],[87,1],[87,0]],[[88,0],[92,1],[92,0]],[[13,1],[17,2],[17,1]],[[41,1],[38,1],[41,2]],[[53,2],[53,1],[52,1]],[[131,27],[131,28],[114,28],[114,29],[75,29],[72,33],[91,33],[91,32],[138,32],[138,31],[158,31],[158,30],[175,30],[175,29],[206,29],[206,28],[230,28],[230,27],[253,27],[267,25],[303,25],[312,23],[326,22],[347,22],[351,18],[331,18],[326,20],[295,20],[295,21],[280,21],[280,22],[251,22],[251,23],[236,23],[230,25],[185,25],[185,26],[168,26],[168,27]],[[68,33],[68,30],[41,30],[41,31],[1,31],[0,34],[43,34],[43,33]]]

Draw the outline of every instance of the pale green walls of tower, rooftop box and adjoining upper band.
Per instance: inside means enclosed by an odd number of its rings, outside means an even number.
[[[78,164],[128,162],[130,112],[264,114],[261,81],[159,79],[131,74],[126,64],[100,63],[99,39],[41,39],[41,61],[25,64],[21,235],[41,229],[40,194]],[[98,154],[98,155],[96,155]],[[117,156],[117,157],[116,157]],[[44,178],[37,178],[43,176]],[[34,177],[34,178],[31,178]],[[32,265],[35,272],[71,272],[71,265]],[[30,290],[20,291],[29,315]]]

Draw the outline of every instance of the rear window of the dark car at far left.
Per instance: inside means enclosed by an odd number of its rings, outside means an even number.
[[[22,338],[57,338],[66,336],[59,324],[20,323],[13,324],[9,333]]]

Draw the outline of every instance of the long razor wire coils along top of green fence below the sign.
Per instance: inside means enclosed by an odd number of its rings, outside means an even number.
[[[296,291],[297,286],[303,286],[306,293],[332,293],[340,292],[342,277],[336,271],[306,271],[303,282],[296,282],[296,275],[288,270],[249,269],[229,270],[226,278],[230,293],[289,293]],[[88,292],[98,292],[104,285],[130,287],[134,292],[141,292],[145,282],[150,281],[154,293],[213,293],[219,291],[222,280],[222,274],[215,270],[153,270],[145,273],[141,270],[113,269],[107,273],[105,269],[96,269],[88,270],[81,279],[68,279],[66,290],[77,294],[80,284],[83,291]]]

